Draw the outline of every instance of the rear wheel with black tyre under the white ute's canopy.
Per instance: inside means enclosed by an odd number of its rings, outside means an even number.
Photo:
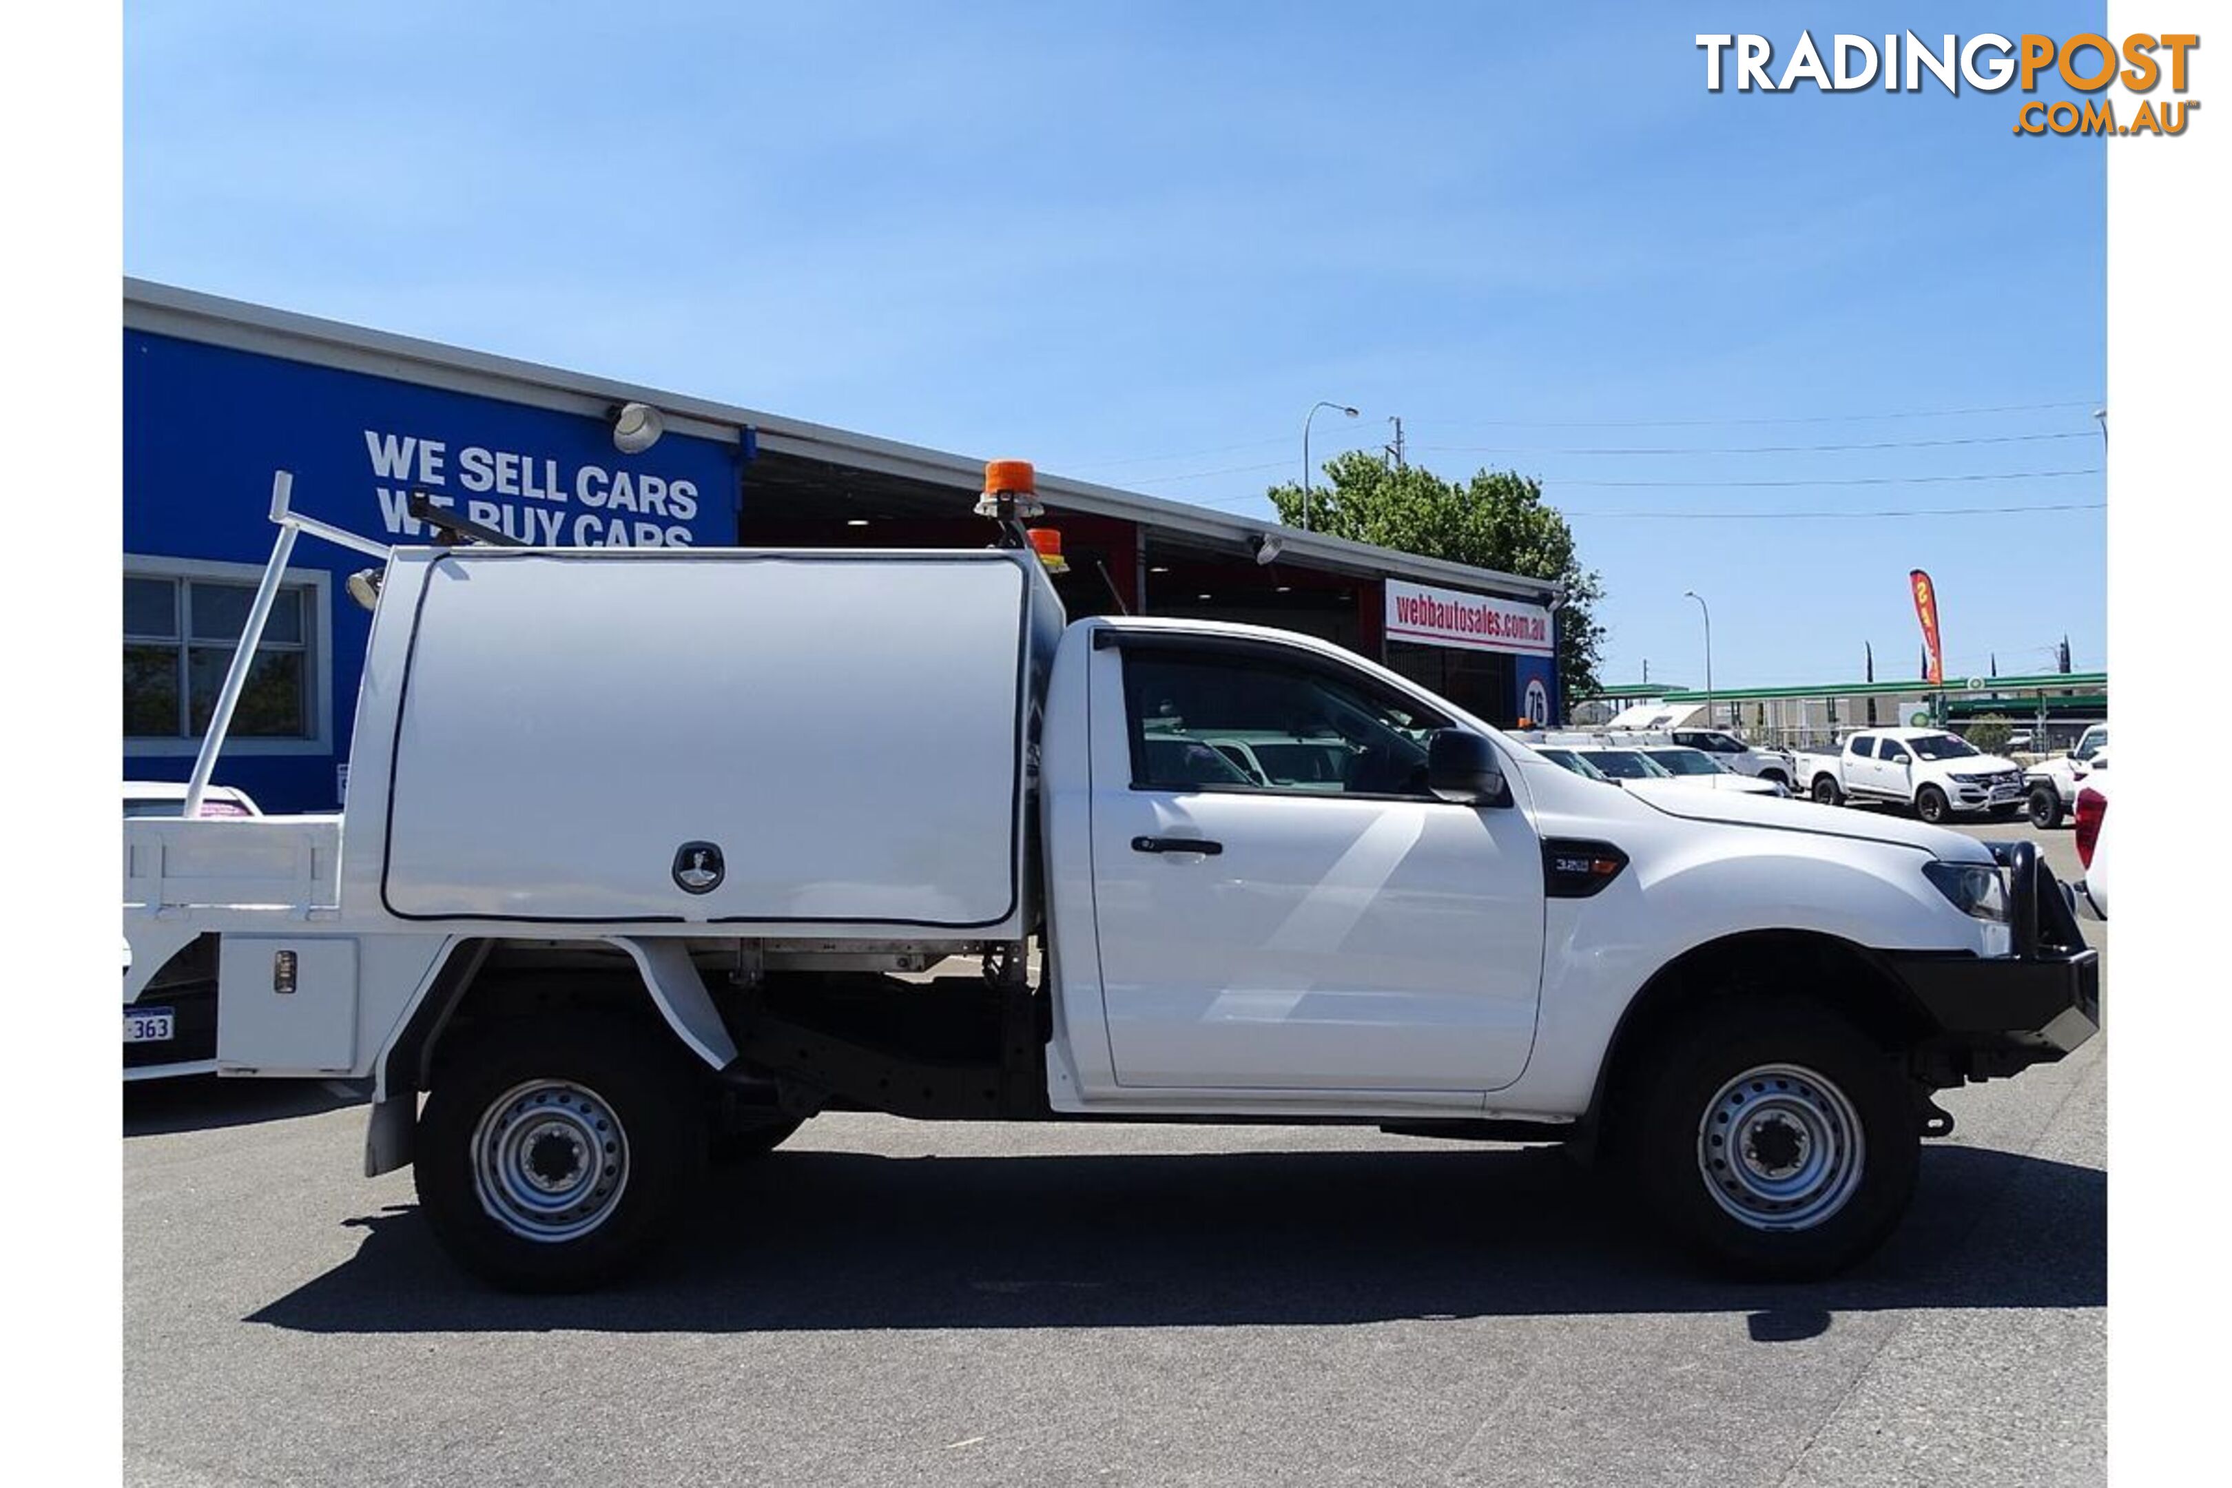
[[[665,1236],[705,1165],[703,1084],[663,1031],[520,1024],[462,1049],[420,1115],[420,1211],[511,1292],[578,1292]]]

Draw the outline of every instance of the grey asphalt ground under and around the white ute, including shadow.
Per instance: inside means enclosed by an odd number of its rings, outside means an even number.
[[[2105,1042],[1946,1095],[1810,1287],[1545,1149],[826,1115],[643,1281],[518,1298],[321,1086],[132,1086],[125,1481],[2096,1484]]]

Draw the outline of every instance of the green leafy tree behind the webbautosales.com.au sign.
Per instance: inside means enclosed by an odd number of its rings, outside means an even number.
[[[1478,471],[1471,480],[1455,482],[1415,464],[1391,468],[1364,451],[1335,455],[1324,473],[1326,484],[1310,486],[1308,522],[1301,486],[1270,489],[1281,522],[1397,553],[1562,584],[1565,605],[1556,616],[1558,696],[1571,709],[1574,698],[1596,692],[1596,665],[1605,647],[1596,605],[1605,598],[1605,582],[1594,569],[1580,567],[1574,529],[1553,506],[1542,504],[1540,480],[1516,471]]]

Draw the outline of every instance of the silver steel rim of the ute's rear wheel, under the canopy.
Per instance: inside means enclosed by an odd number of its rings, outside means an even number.
[[[627,1131],[571,1080],[527,1080],[491,1100],[471,1151],[480,1207],[522,1240],[578,1240],[627,1191]]]

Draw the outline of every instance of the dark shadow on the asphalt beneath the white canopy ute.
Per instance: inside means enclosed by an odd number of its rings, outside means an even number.
[[[1326,1325],[1748,1312],[1761,1343],[1835,1312],[2100,1307],[2107,1173],[1937,1147],[1906,1225],[1830,1283],[1743,1285],[1641,1234],[1545,1149],[873,1158],[775,1153],[716,1187],[641,1281],[507,1296],[417,1214],[350,1220],[348,1263],[254,1312],[301,1332],[772,1332]]]

